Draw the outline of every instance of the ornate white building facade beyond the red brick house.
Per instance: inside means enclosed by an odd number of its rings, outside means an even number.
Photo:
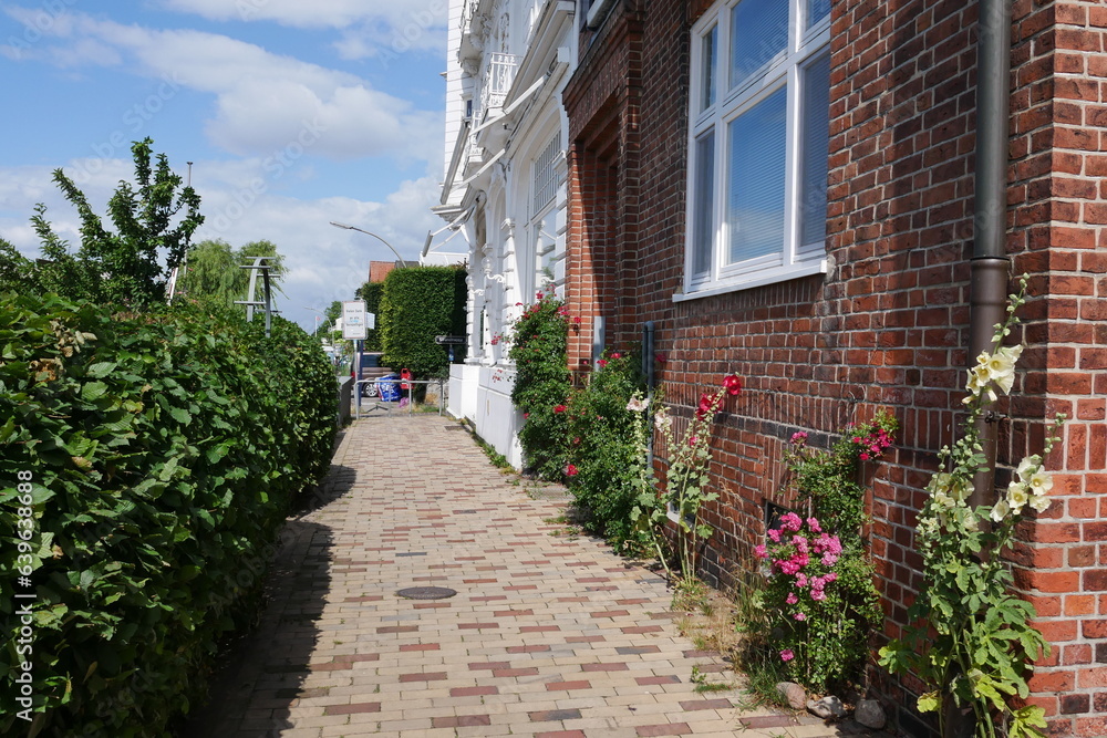
[[[577,59],[576,6],[451,2],[446,176],[434,210],[447,221],[442,235],[468,245],[468,351],[451,367],[448,407],[517,468],[523,418],[504,337],[539,291],[563,294],[561,92]]]

